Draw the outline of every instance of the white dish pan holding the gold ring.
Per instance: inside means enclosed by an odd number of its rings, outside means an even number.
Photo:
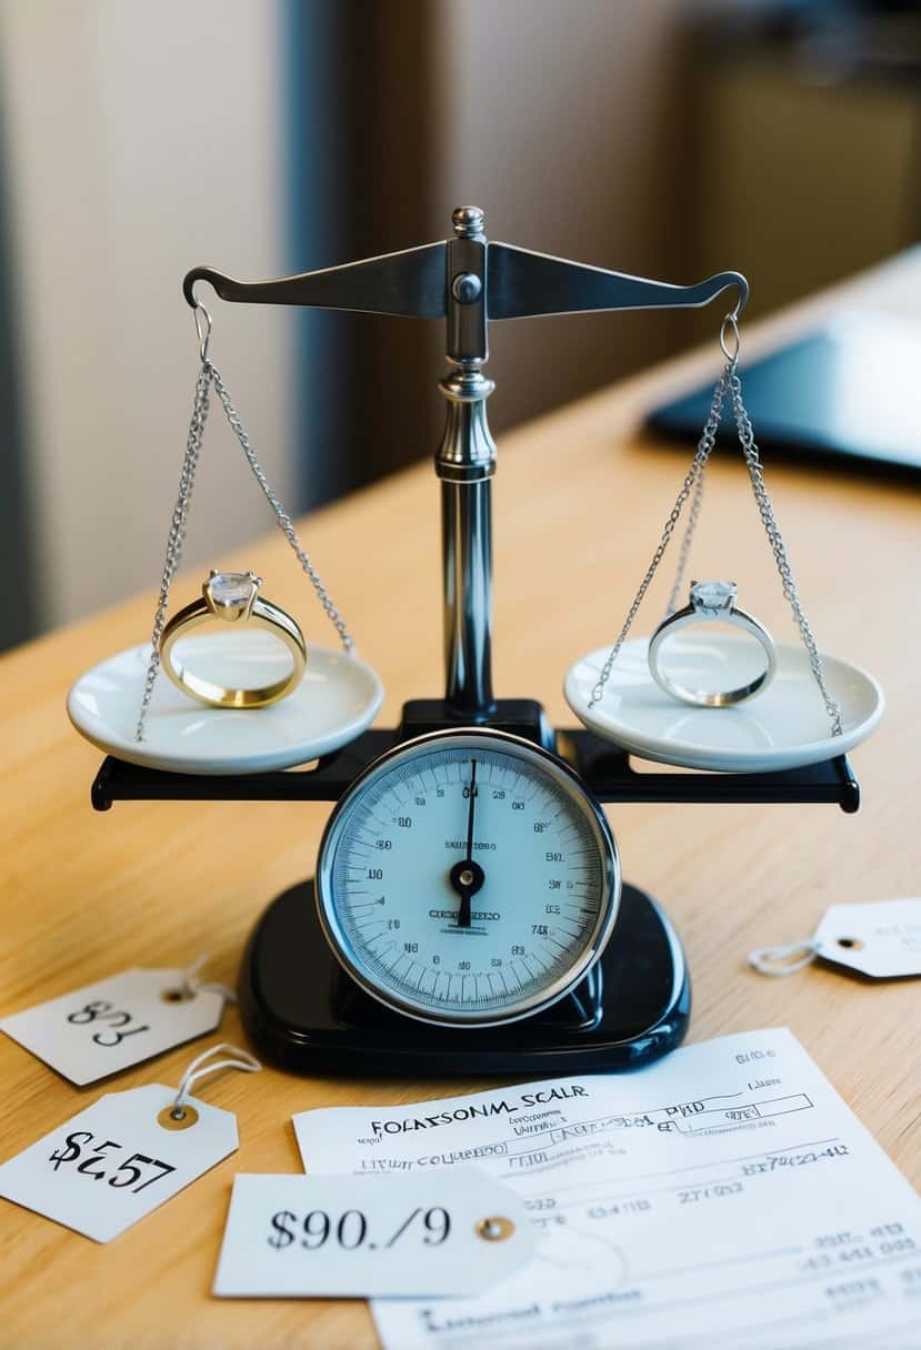
[[[161,671],[138,744],[134,729],[149,653],[149,645],[131,647],[85,671],[68,695],[68,716],[107,755],[174,774],[262,774],[305,764],[366,730],[384,698],[370,666],[312,644],[301,683],[269,707],[207,707]],[[255,645],[250,655],[253,662],[261,657]],[[246,683],[258,684],[258,672]]]

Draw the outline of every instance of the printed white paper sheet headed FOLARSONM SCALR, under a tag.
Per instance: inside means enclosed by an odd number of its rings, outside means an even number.
[[[313,1174],[474,1164],[539,1233],[481,1296],[377,1300],[394,1350],[921,1345],[921,1202],[787,1030],[294,1129]]]

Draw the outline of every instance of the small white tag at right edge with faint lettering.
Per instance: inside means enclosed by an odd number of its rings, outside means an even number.
[[[825,961],[878,980],[921,975],[921,899],[832,905],[813,941]]]

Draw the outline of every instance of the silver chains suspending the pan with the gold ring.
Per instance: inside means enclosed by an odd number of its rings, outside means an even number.
[[[203,319],[200,317],[199,310],[201,310],[201,315],[204,316],[204,324],[207,324],[207,327],[203,327]],[[313,586],[313,590],[316,591],[317,598],[323,605],[327,617],[330,618],[330,622],[339,633],[339,639],[346,652],[351,652],[354,648],[351,633],[348,632],[348,628],[346,626],[342,614],[332,603],[330,593],[320,580],[320,575],[313,567],[313,563],[304,552],[290,516],[285,512],[281,502],[278,501],[271,487],[269,486],[269,481],[265,475],[262,464],[259,463],[259,459],[255,454],[255,450],[253,448],[250,437],[246,435],[239,414],[234,408],[234,404],[231,402],[227,386],[224,385],[224,381],[220,377],[220,371],[208,356],[208,342],[211,338],[211,317],[201,305],[196,309],[196,327],[199,329],[199,338],[201,342],[201,367],[199,370],[199,378],[194,386],[194,404],[192,408],[192,421],[189,423],[189,435],[185,443],[185,458],[182,460],[182,473],[180,475],[180,493],[176,501],[176,508],[173,510],[173,520],[170,522],[169,537],[166,540],[166,560],[163,563],[163,575],[159,585],[159,598],[157,601],[157,610],[154,614],[154,628],[150,639],[151,652],[150,652],[150,660],[147,663],[147,672],[144,675],[144,688],[140,697],[138,725],[135,728],[135,741],[139,742],[143,741],[144,738],[144,722],[147,720],[147,710],[150,707],[150,701],[154,694],[157,674],[159,671],[159,641],[161,637],[163,636],[163,628],[166,626],[166,609],[169,605],[170,586],[182,560],[182,548],[185,545],[185,532],[189,518],[192,489],[194,486],[194,474],[196,468],[199,467],[199,456],[201,454],[201,440],[204,435],[205,421],[208,418],[208,406],[209,406],[208,392],[212,383],[221,402],[224,413],[227,414],[227,421],[230,423],[231,429],[239,441],[240,450],[246,455],[250,468],[253,470],[255,481],[258,482],[259,487],[262,489],[266,497],[266,501],[275,513],[278,528],[281,529],[285,539],[293,548],[298,563],[307,572],[307,576],[309,578],[311,585]]]

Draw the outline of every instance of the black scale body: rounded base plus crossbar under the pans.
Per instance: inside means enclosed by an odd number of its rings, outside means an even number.
[[[555,732],[533,699],[500,699],[479,725],[559,755],[598,802],[820,803],[856,811],[860,790],[844,756],[777,774],[637,772],[624,751],[583,729]],[[107,759],[93,806],[116,801],[338,802],[385,751],[425,732],[470,725],[442,699],[404,705],[396,729],[365,732],[302,772],[203,778]],[[243,1025],[267,1060],[300,1073],[377,1076],[585,1073],[637,1068],[679,1045],[690,1015],[681,942],[654,899],[624,886],[608,948],[578,988],[544,1013],[486,1030],[429,1027],[369,998],[340,969],[316,917],[313,883],[273,900],[250,938],[239,977]]]

